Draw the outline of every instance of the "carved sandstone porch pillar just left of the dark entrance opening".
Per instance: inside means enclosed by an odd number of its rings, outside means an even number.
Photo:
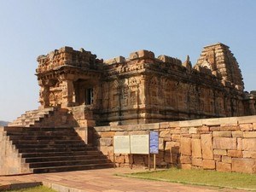
[[[65,79],[62,81],[62,102],[61,107],[71,107],[73,103],[73,81]]]

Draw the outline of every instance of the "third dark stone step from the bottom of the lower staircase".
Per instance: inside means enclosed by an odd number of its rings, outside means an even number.
[[[108,160],[103,154],[97,155],[73,155],[73,156],[54,156],[54,157],[32,157],[26,158],[26,163],[49,162],[61,160]]]

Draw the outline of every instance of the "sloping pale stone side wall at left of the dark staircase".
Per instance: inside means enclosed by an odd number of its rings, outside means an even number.
[[[9,141],[6,131],[0,127],[0,175],[17,175],[32,173],[28,164],[24,163],[18,150]]]

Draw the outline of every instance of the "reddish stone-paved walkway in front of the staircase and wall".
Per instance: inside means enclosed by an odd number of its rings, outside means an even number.
[[[131,177],[119,177],[114,174],[128,172],[142,172],[143,170],[130,170],[126,168],[88,170],[79,172],[57,172],[45,174],[32,174],[23,176],[0,177],[0,191],[4,187],[16,183],[43,182],[45,186],[61,192],[216,192],[216,191],[244,191],[235,189],[217,189],[185,185],[180,183],[167,183],[149,181]]]

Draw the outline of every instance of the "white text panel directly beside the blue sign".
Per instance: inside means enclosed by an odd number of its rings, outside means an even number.
[[[148,154],[148,139],[148,135],[131,136],[131,154]]]

